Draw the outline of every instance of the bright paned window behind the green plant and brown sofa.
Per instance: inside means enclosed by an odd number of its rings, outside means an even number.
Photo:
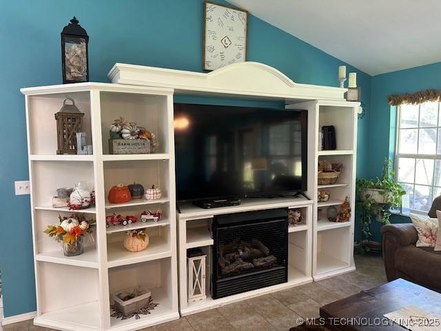
[[[440,102],[398,108],[397,180],[409,194],[411,210],[429,211],[441,195]]]

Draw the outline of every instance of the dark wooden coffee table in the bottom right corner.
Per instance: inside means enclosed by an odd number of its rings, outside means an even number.
[[[383,314],[410,305],[416,305],[421,310],[441,317],[441,294],[404,281],[404,279],[397,279],[346,299],[324,305],[320,308],[320,317],[325,319],[326,326],[331,330],[404,331],[407,329],[398,324],[392,325],[391,321],[383,317]],[[358,321],[362,321],[362,323],[358,323]],[[367,321],[370,322],[370,325],[364,325],[367,324]],[[387,326],[378,325],[378,323],[389,322],[390,324]],[[433,331],[439,331],[441,325],[431,328]]]

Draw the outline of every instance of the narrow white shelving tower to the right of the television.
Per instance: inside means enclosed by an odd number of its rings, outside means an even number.
[[[355,270],[353,263],[353,229],[355,220],[355,180],[357,113],[360,103],[348,101],[307,101],[288,105],[290,109],[308,110],[308,193],[314,198],[312,276],[314,281]],[[336,150],[320,150],[319,128],[336,128]],[[343,163],[335,184],[318,185],[318,162]],[[311,173],[312,172],[312,173]],[[318,202],[318,190],[330,192],[330,199]],[[351,205],[349,222],[327,219],[329,206],[337,209],[348,197]]]

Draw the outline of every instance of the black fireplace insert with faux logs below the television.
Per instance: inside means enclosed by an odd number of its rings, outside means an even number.
[[[287,282],[287,209],[218,215],[213,239],[213,299]]]

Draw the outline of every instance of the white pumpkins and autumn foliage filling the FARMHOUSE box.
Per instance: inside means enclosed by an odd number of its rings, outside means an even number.
[[[151,152],[155,151],[158,144],[154,133],[142,126],[137,126],[135,122],[125,121],[123,117],[115,119],[110,125],[110,139],[145,139],[150,141]]]

